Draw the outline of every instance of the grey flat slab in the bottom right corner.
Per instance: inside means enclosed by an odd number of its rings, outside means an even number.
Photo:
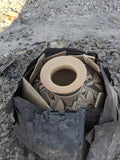
[[[120,122],[95,127],[94,141],[86,160],[120,160]]]

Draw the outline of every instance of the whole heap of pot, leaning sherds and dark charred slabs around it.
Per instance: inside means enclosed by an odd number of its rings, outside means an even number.
[[[62,57],[80,61],[85,70],[82,66],[74,68],[77,65],[71,66],[71,61],[67,68],[62,64],[60,76],[54,78],[58,69],[53,74],[52,67],[59,63],[53,60],[61,58],[62,63]],[[72,76],[64,79],[69,74]],[[14,113],[16,137],[43,160],[116,159],[120,153],[120,104],[110,82],[109,70],[96,53],[69,48],[44,50],[27,67],[6,107],[7,114]],[[75,87],[69,90],[73,83]]]

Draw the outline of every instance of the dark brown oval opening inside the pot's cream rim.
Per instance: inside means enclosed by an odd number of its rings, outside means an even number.
[[[70,69],[61,69],[53,73],[51,79],[59,86],[70,85],[76,79],[76,73]]]

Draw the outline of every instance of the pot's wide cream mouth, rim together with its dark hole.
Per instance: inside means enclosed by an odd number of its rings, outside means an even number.
[[[46,89],[60,95],[77,91],[87,78],[82,61],[72,56],[60,56],[49,60],[41,69],[40,79]]]

